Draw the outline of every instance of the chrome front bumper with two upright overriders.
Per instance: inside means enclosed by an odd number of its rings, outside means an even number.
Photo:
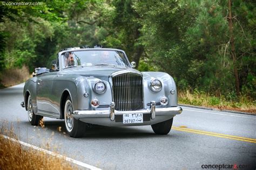
[[[151,119],[156,118],[156,115],[176,115],[182,112],[181,107],[163,107],[156,108],[156,101],[151,101],[150,108],[145,110],[137,111],[116,111],[114,110],[114,102],[109,105],[109,110],[76,110],[73,111],[72,115],[76,119],[80,118],[110,118],[111,121],[114,120],[115,115],[123,115],[127,113],[143,113],[150,114]]]

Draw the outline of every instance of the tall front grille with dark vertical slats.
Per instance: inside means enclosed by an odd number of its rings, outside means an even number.
[[[126,73],[112,78],[113,101],[118,111],[143,109],[143,77]]]

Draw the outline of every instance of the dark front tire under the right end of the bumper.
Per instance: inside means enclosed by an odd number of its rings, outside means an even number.
[[[154,133],[156,134],[168,134],[172,128],[172,119],[160,122],[158,124],[151,125]]]

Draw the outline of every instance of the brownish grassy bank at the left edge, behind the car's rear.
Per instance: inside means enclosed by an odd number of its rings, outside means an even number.
[[[26,66],[22,69],[6,69],[0,73],[0,89],[23,83],[29,78],[29,69]]]

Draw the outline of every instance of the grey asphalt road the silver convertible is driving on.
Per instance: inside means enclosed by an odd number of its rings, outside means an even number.
[[[70,138],[63,120],[44,118],[44,128],[29,124],[20,106],[23,85],[0,90],[0,127],[12,126],[19,140],[29,144],[57,149],[59,154],[102,169],[201,169],[209,165],[255,169],[248,168],[256,165],[254,115],[183,107],[168,135],[156,135],[150,126],[96,126],[83,138]]]

